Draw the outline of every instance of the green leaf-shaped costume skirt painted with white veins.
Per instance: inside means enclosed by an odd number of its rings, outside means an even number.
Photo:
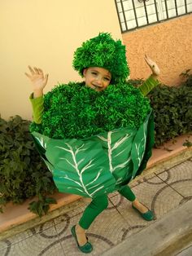
[[[33,139],[59,192],[85,197],[114,192],[142,172],[154,142],[153,114],[142,126],[120,128],[86,139]]]

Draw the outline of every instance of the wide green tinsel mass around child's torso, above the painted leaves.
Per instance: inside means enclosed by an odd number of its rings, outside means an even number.
[[[130,84],[110,85],[101,92],[70,82],[55,86],[44,96],[41,125],[30,131],[53,139],[83,139],[121,127],[138,128],[151,107],[140,90]]]

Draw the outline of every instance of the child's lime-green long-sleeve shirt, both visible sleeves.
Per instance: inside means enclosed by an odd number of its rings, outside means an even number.
[[[155,80],[153,77],[149,77],[146,79],[145,82],[142,83],[142,86],[140,86],[138,89],[141,90],[142,95],[146,96],[158,84],[158,80]],[[31,94],[29,99],[33,107],[33,121],[37,124],[41,124],[41,117],[44,111],[43,96],[34,99],[33,94]]]

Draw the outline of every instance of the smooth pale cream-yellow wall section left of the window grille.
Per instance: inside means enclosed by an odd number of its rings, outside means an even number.
[[[6,119],[32,117],[28,64],[49,73],[46,92],[58,82],[81,79],[72,69],[81,42],[99,32],[122,39],[111,0],[1,0],[0,31],[0,113]]]

